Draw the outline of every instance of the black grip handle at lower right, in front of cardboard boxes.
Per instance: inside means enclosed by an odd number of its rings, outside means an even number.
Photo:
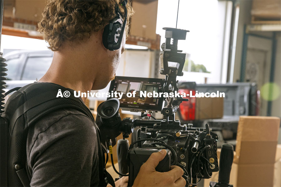
[[[227,143],[223,144],[219,156],[219,183],[229,184],[233,156],[233,146]]]

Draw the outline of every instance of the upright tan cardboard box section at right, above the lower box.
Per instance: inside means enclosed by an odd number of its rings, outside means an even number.
[[[279,117],[240,116],[236,137],[239,164],[274,164]]]

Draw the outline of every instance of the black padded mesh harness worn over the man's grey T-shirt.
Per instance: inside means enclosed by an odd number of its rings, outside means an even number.
[[[58,91],[69,92],[68,97],[57,97]],[[74,97],[73,90],[53,83],[28,84],[13,93],[5,104],[3,117],[7,120],[7,183],[8,186],[30,186],[31,174],[27,169],[28,128],[38,119],[62,108],[74,108],[91,119],[96,128],[99,146],[99,186],[109,182],[115,186],[112,177],[105,170],[105,149],[101,134],[90,110],[81,98]]]

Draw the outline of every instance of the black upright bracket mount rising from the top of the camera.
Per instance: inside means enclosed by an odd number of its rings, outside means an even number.
[[[178,50],[178,40],[185,40],[187,30],[164,27],[166,42],[161,45],[163,51],[160,54],[161,70],[160,74],[165,75],[162,91],[175,93],[178,91],[177,76],[183,76],[183,66],[185,64],[185,53]],[[173,40],[171,43],[171,39]],[[177,129],[186,131],[186,126],[181,126],[179,120],[175,120],[175,113],[178,111],[180,103],[188,101],[187,98],[174,97],[166,98],[167,105],[162,109],[162,114],[166,119],[160,122],[159,129]]]

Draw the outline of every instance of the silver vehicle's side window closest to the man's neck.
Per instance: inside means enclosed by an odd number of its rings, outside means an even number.
[[[22,74],[22,80],[41,79],[49,69],[52,58],[52,56],[28,57]]]

